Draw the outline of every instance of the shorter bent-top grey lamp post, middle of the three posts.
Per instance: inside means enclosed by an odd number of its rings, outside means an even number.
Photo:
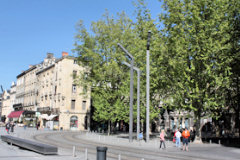
[[[127,62],[123,62],[128,67],[131,65]],[[137,84],[137,140],[139,140],[139,133],[140,133],[140,75],[141,71],[137,67],[133,67],[134,70],[137,71],[138,74],[138,84]]]

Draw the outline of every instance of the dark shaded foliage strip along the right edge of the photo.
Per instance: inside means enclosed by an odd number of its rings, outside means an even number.
[[[236,114],[234,128],[239,129],[240,133],[240,1],[229,1],[228,5],[228,21],[229,28],[226,34],[230,35],[230,39],[226,42],[229,44],[228,56],[231,57],[230,67],[230,87],[227,92],[227,113],[233,112]],[[233,129],[234,129],[233,128]]]

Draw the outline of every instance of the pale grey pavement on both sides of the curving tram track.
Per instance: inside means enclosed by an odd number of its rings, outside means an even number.
[[[42,134],[42,133],[59,133],[60,131],[48,131],[48,130],[36,130],[36,128],[27,128],[24,130],[23,127],[16,127],[15,132],[10,135],[16,136],[19,138],[32,139],[34,135]],[[62,131],[64,133],[68,133],[67,131]],[[145,151],[152,152],[162,152],[168,155],[179,155],[179,156],[187,156],[189,159],[195,159],[195,157],[199,157],[200,159],[216,159],[216,160],[229,160],[229,159],[239,159],[240,157],[240,149],[225,147],[218,144],[189,144],[189,152],[182,151],[175,147],[175,144],[172,141],[166,141],[166,150],[159,149],[159,138],[152,138],[148,143],[145,141],[138,142],[137,140],[133,140],[133,142],[129,142],[128,134],[117,134],[117,135],[103,135],[99,133],[91,133],[91,132],[75,132],[77,134],[76,138],[84,139],[87,141],[97,142],[104,145],[115,145],[122,147],[131,147],[135,149],[142,149]],[[7,132],[5,128],[0,127],[0,135],[6,135]],[[33,139],[32,139],[33,140]],[[53,156],[44,156],[32,151],[19,149],[19,147],[11,146],[6,144],[5,142],[0,141],[0,159],[6,160],[30,160],[30,159],[43,159],[43,160],[83,160],[85,155],[84,153],[77,153],[77,157],[72,156],[72,150],[58,148],[58,155]],[[96,159],[96,155],[89,155],[89,159]],[[110,160],[110,159],[108,159]]]

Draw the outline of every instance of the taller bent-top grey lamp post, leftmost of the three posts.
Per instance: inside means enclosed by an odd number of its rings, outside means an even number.
[[[129,142],[132,142],[132,132],[133,132],[133,56],[120,44],[118,46],[127,54],[131,59],[131,69],[130,69],[130,108],[129,108]]]

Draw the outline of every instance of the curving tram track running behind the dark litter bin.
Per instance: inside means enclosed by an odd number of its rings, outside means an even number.
[[[134,148],[130,146],[117,146],[111,144],[104,144],[100,142],[93,142],[80,138],[79,132],[67,132],[67,133],[54,133],[54,134],[39,134],[33,136],[33,139],[41,141],[50,145],[58,146],[61,148],[72,149],[73,146],[76,147],[76,151],[84,152],[88,149],[89,154],[96,155],[97,146],[108,147],[107,155],[109,158],[118,159],[118,155],[121,154],[122,160],[139,160],[144,158],[145,160],[157,160],[160,157],[164,159],[176,159],[176,160],[205,160],[206,158],[200,158],[191,155],[182,155],[165,151],[151,151],[141,148]],[[209,160],[215,160],[210,159]]]

